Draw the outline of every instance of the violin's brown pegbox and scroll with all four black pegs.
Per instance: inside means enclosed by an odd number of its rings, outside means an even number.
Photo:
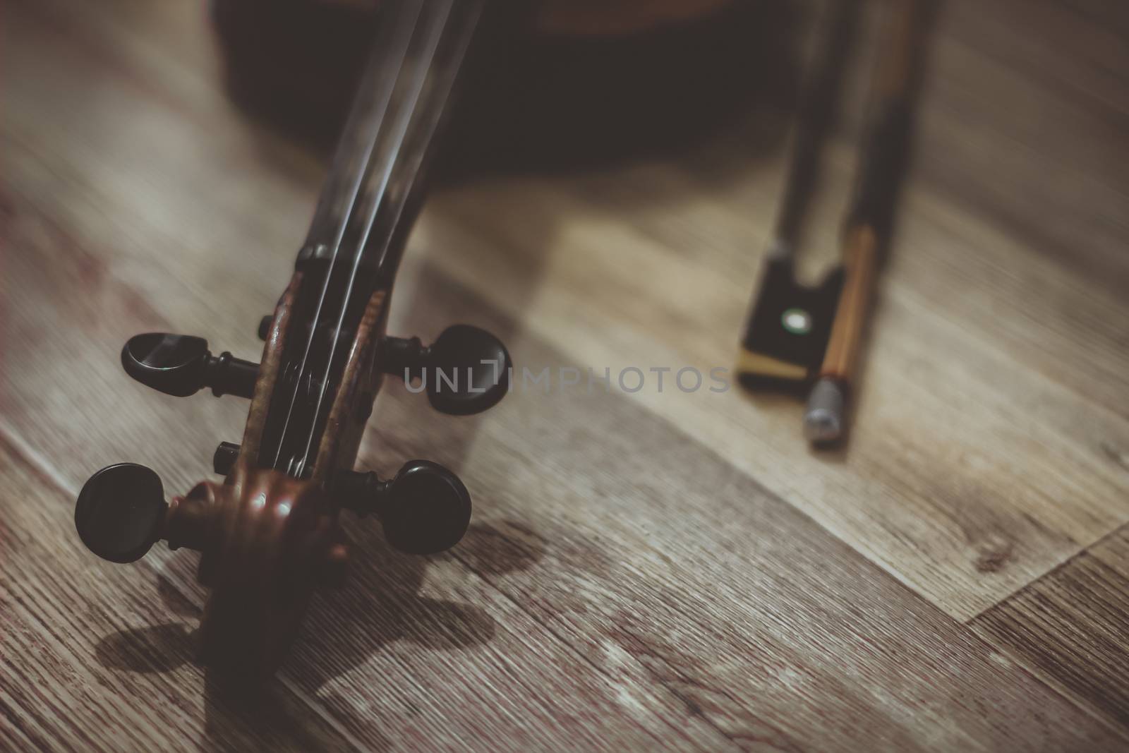
[[[210,665],[247,677],[265,677],[278,666],[316,588],[344,581],[342,510],[377,518],[388,544],[408,554],[443,552],[466,533],[471,496],[438,463],[411,459],[391,479],[352,470],[382,377],[419,384],[412,391],[426,392],[434,409],[450,415],[480,413],[509,387],[510,357],[498,338],[470,325],[447,327],[430,345],[388,338],[380,327],[387,296],[377,292],[334,387],[333,429],[318,445],[318,463],[308,475],[261,466],[266,432],[260,406],[287,388],[279,386],[288,384],[280,353],[299,287],[296,277],[275,316],[260,327],[266,335],[262,365],[228,352],[212,356],[203,339],[167,333],[137,335],[122,349],[125,371],[164,394],[189,396],[207,387],[217,396],[251,399],[244,444],[221,443],[212,458],[224,483],[204,481],[166,501],[156,473],[121,463],[95,473],[75,508],[82,543],[107,561],[133,562],[161,540],[169,549],[201,552],[199,580],[211,590],[201,650]]]

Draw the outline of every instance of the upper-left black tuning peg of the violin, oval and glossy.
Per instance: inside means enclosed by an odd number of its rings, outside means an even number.
[[[166,395],[187,397],[203,387],[212,394],[251,397],[259,364],[229,352],[212,356],[203,338],[149,332],[130,338],[122,348],[125,373]]]

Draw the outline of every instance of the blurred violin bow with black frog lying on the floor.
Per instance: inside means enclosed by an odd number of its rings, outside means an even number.
[[[910,150],[916,96],[936,0],[890,0],[875,63],[859,174],[842,233],[842,262],[815,288],[795,278],[796,237],[833,119],[858,2],[834,0],[828,43],[802,108],[776,240],[742,341],[737,373],[749,387],[812,386],[804,435],[816,445],[846,434],[877,270],[890,245]]]

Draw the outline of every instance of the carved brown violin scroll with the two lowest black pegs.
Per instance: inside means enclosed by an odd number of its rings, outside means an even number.
[[[340,586],[349,552],[340,510],[375,514],[394,548],[431,554],[455,545],[471,519],[471,497],[436,463],[411,461],[391,481],[342,472],[331,493],[279,471],[236,463],[225,483],[201,482],[165,502],[151,470],[120,463],[87,481],[75,509],[79,537],[98,557],[126,563],[157,541],[202,553],[211,589],[200,639],[203,658],[244,678],[281,662],[317,587]]]

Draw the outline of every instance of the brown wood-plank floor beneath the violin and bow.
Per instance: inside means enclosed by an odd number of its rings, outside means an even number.
[[[0,10],[0,748],[1129,748],[1123,3],[945,7],[844,449],[785,396],[581,382],[452,419],[391,385],[364,465],[456,469],[471,532],[420,560],[358,525],[259,698],[194,663],[192,553],[111,566],[72,522],[93,471],[182,492],[240,436],[238,400],[146,391],[117,351],[260,352],[323,176],[233,104],[203,6]],[[759,35],[799,50],[795,20]],[[438,190],[392,330],[489,326],[533,373],[730,366],[785,167],[795,65],[765,64],[708,138]]]

